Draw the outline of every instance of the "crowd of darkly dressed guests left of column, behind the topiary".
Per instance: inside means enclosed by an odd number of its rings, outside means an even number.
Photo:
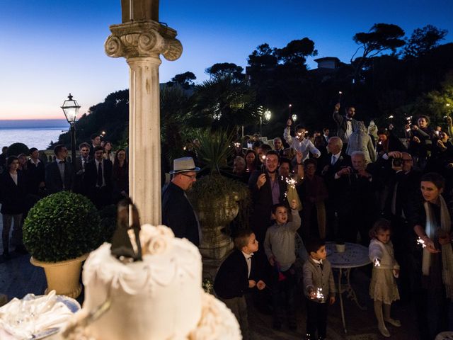
[[[59,191],[73,191],[88,197],[101,210],[128,196],[129,168],[125,149],[113,152],[111,142],[101,142],[99,135],[92,135],[91,145],[86,142],[79,145],[80,156],[75,162],[67,162],[68,149],[64,145],[56,145],[54,153],[55,160],[45,164],[35,147],[29,154],[8,157],[7,147],[2,149],[0,212],[6,260],[11,258],[10,244],[15,246],[14,251],[26,252],[22,243],[23,221],[40,198]]]

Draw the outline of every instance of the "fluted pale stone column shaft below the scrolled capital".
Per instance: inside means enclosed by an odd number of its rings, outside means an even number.
[[[161,129],[156,57],[127,58],[129,89],[129,188],[140,223],[161,224]]]

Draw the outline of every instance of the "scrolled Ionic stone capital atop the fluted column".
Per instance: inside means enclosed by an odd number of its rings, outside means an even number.
[[[109,57],[159,57],[177,60],[183,45],[176,39],[176,30],[152,20],[131,21],[110,26],[110,34],[104,43]]]

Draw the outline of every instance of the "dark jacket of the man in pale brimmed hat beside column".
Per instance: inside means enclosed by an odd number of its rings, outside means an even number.
[[[198,222],[183,189],[172,182],[162,190],[162,224],[170,227],[176,237],[185,237],[200,246]]]

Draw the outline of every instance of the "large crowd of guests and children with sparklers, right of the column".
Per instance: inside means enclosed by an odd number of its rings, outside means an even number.
[[[256,136],[235,144],[231,172],[250,188],[251,231],[236,235],[236,251],[219,268],[214,290],[235,312],[243,334],[248,331],[241,299],[249,288],[255,295],[270,288],[273,327],[285,321],[295,329],[299,276],[306,338],[324,339],[327,306],[335,301],[324,240],[339,239],[369,246],[374,265],[369,294],[383,336],[390,336],[389,325],[401,326],[390,316],[391,303],[400,297],[415,303],[420,339],[452,330],[452,120],[442,130],[431,128],[427,115],[416,123],[408,119],[405,135],[397,136],[392,124],[366,128],[355,117],[355,108],[342,114],[338,103],[336,136],[328,128],[309,136],[288,120],[283,138],[273,143]],[[294,188],[296,198],[290,195]],[[295,233],[308,253],[302,273],[294,266]],[[316,287],[323,289],[322,298]]]

